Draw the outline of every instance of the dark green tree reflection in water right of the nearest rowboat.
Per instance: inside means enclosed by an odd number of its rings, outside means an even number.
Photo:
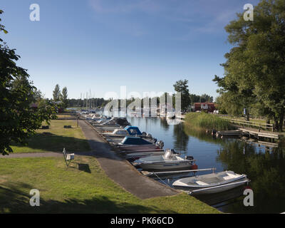
[[[254,207],[232,204],[228,212],[284,212],[285,159],[284,149],[260,150],[246,142],[227,141],[217,151],[217,160],[228,170],[245,173],[252,182]]]

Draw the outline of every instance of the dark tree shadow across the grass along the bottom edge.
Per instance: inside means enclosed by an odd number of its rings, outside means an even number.
[[[31,189],[32,186],[24,183],[0,186],[0,213],[175,213],[155,206],[115,202],[100,195],[92,199],[64,199],[63,202],[41,198],[39,207],[31,207],[32,195],[28,195]]]

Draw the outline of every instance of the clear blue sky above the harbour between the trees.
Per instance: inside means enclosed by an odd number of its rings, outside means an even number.
[[[0,36],[21,56],[46,98],[58,83],[70,98],[89,92],[173,91],[180,79],[190,93],[217,97],[227,43],[224,26],[257,0],[1,0]],[[30,21],[31,4],[40,21]]]

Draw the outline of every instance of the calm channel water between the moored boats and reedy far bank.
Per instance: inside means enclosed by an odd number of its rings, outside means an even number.
[[[212,138],[187,128],[179,120],[128,117],[128,121],[157,140],[163,140],[165,148],[174,148],[181,152],[182,157],[192,155],[199,169],[215,167],[216,172],[232,170],[246,174],[251,180],[249,187],[254,192],[254,207],[244,206],[244,187],[200,197],[204,202],[230,213],[285,212],[285,148],[269,148],[234,138]],[[209,172],[199,172],[198,175]],[[170,186],[175,180],[177,177],[162,179]]]

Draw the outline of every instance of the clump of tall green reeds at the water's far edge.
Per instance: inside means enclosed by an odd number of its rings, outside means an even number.
[[[197,129],[215,129],[215,130],[232,130],[234,127],[228,120],[219,118],[213,114],[207,113],[187,113],[185,123],[191,128]]]

